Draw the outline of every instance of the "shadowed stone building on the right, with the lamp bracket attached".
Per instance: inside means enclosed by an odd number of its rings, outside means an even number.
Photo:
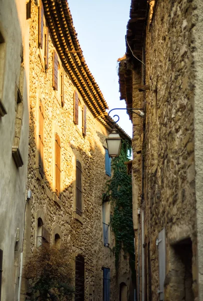
[[[120,98],[133,123],[138,300],[202,300],[199,0],[132,0]],[[138,112],[138,111],[136,111]]]

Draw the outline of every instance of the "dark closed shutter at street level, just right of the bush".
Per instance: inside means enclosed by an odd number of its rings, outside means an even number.
[[[82,255],[75,260],[75,300],[84,301],[85,297],[85,259]]]

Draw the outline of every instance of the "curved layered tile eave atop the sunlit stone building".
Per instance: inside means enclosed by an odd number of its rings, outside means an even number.
[[[108,105],[102,92],[89,71],[73,27],[72,17],[66,0],[42,0],[49,31],[64,68],[81,93],[95,117],[103,115]]]

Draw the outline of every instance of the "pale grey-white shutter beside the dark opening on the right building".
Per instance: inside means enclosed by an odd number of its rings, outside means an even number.
[[[159,300],[164,300],[164,280],[165,280],[165,228],[163,228],[159,234],[156,241],[158,245],[158,269],[159,269]]]

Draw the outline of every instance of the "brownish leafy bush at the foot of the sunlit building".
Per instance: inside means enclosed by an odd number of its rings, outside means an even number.
[[[57,249],[43,244],[36,248],[25,268],[25,275],[30,280],[32,301],[72,300],[74,275],[67,246]]]

